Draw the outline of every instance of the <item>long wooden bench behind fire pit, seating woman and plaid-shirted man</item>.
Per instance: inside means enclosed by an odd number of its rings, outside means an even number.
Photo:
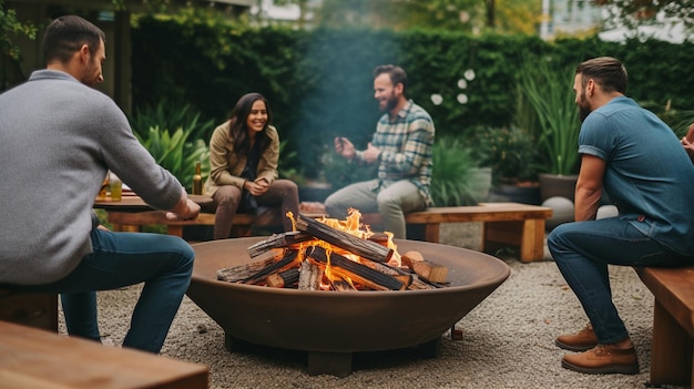
[[[551,216],[551,207],[519,203],[482,203],[474,206],[430,207],[407,214],[405,221],[408,226],[423,226],[423,239],[433,243],[439,243],[441,223],[481,222],[482,250],[491,253],[506,245],[518,246],[520,259],[532,262],[542,260],[544,256],[544,224]],[[214,225],[214,214],[206,213],[201,213],[197,219],[190,222],[167,221],[162,211],[109,212],[108,219],[119,231],[137,231],[142,225],[163,224],[167,225],[169,234],[177,236],[182,236],[183,226],[186,225]],[[236,214],[233,225],[247,229],[252,222],[252,215]],[[364,214],[363,222],[371,226],[381,224],[379,214]]]

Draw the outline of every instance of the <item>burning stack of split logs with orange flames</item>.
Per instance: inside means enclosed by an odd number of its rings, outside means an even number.
[[[445,283],[430,278],[437,268],[417,252],[401,256],[392,234],[374,233],[361,213],[349,209],[345,221],[287,213],[293,231],[275,234],[248,247],[251,257],[275,255],[252,264],[217,270],[217,279],[300,290],[431,289]],[[419,256],[417,264],[412,258]],[[406,259],[406,260],[405,260]],[[405,263],[406,266],[402,266]],[[423,267],[422,267],[423,266]],[[418,270],[419,267],[419,270]]]

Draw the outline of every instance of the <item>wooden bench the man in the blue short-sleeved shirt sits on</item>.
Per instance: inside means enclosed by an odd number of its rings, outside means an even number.
[[[635,270],[655,297],[650,383],[694,389],[694,266]]]

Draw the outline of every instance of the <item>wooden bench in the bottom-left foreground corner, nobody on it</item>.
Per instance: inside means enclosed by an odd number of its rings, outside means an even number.
[[[0,321],[0,387],[203,389],[206,366]]]

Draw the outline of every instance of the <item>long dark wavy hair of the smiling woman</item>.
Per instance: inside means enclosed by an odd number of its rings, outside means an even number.
[[[273,121],[273,114],[269,110],[269,104],[267,100],[263,98],[259,93],[247,93],[244,94],[234,110],[232,111],[232,115],[229,117],[229,135],[234,140],[234,149],[238,154],[248,155],[251,152],[251,139],[248,137],[248,125],[246,124],[246,120],[251,114],[251,109],[253,108],[253,103],[262,100],[265,102],[265,109],[267,110],[267,122],[265,122],[265,126],[263,131],[258,132],[255,135],[255,142],[258,144],[261,153],[264,152],[271,144],[272,140],[267,136],[267,127],[271,125]]]

